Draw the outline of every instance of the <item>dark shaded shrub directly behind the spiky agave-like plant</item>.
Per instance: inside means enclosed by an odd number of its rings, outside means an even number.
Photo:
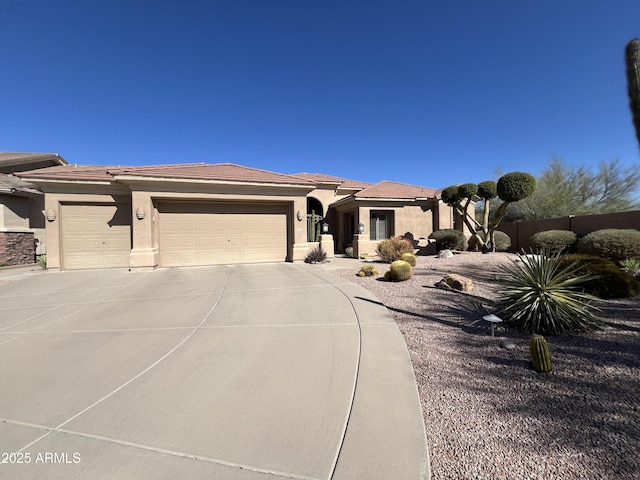
[[[640,284],[628,272],[615,263],[595,255],[569,254],[561,257],[561,264],[577,263],[578,274],[595,275],[582,284],[584,291],[602,299],[635,297],[640,293]]]

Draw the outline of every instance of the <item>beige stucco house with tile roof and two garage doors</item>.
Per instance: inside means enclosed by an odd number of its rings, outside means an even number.
[[[330,251],[373,253],[391,235],[454,225],[432,189],[229,163],[60,165],[19,176],[45,194],[53,269],[299,261],[312,246],[312,211],[328,226],[320,240]]]

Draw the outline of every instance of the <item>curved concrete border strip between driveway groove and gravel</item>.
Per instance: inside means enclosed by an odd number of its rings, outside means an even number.
[[[356,311],[361,360],[353,409],[332,480],[428,479],[424,420],[404,338],[368,290],[314,265],[301,268],[332,283]]]

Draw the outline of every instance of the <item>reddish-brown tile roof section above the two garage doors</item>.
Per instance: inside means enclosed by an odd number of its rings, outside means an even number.
[[[232,163],[186,163],[144,167],[86,167],[67,165],[24,172],[21,173],[20,176],[34,180],[114,181],[119,178],[144,178],[313,186],[313,182],[291,175],[243,167]]]

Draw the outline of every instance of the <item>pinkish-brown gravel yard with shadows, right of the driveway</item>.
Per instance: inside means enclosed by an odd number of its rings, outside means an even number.
[[[491,337],[480,320],[514,258],[418,257],[413,278],[397,283],[358,277],[358,260],[332,272],[376,295],[404,335],[433,479],[639,478],[640,297],[602,303],[610,329],[547,337],[553,371],[539,374],[528,335]],[[434,288],[447,273],[471,278],[473,291]],[[500,348],[506,339],[516,347]]]

